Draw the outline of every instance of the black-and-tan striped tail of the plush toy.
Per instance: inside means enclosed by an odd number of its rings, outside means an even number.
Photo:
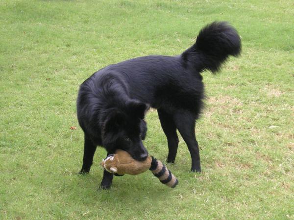
[[[160,182],[169,187],[174,188],[178,184],[178,180],[173,176],[172,172],[159,160],[152,156],[151,167],[149,170],[154,176],[159,178]]]

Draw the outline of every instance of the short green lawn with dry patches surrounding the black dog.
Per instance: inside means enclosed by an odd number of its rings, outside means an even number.
[[[291,0],[1,0],[0,219],[294,219],[293,15]],[[98,191],[101,148],[77,175],[79,85],[112,63],[180,54],[215,20],[237,28],[243,53],[203,73],[202,173],[180,139],[175,189],[146,172]],[[156,110],[147,123],[164,161]]]

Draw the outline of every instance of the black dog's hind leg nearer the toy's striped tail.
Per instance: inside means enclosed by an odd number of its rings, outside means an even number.
[[[167,162],[174,163],[175,156],[177,153],[179,138],[176,133],[176,127],[172,119],[172,115],[168,114],[162,109],[158,109],[158,116],[161,123],[161,127],[168,139],[169,155]]]

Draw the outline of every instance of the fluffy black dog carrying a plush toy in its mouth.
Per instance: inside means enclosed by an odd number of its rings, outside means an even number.
[[[196,43],[178,56],[146,56],[106,66],[80,86],[77,117],[85,134],[83,166],[88,173],[97,145],[107,154],[127,151],[136,160],[147,157],[142,140],[147,132],[144,116],[149,106],[157,109],[167,136],[173,163],[178,130],[192,158],[193,172],[200,172],[195,121],[203,106],[200,73],[217,72],[229,55],[241,52],[237,31],[226,22],[213,22],[198,34]],[[109,188],[113,175],[104,171],[101,188]]]

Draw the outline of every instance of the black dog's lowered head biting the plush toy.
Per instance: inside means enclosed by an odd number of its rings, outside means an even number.
[[[147,133],[144,116],[148,106],[136,100],[110,108],[103,122],[102,142],[107,151],[122,149],[135,160],[143,161],[148,152],[143,145]]]

